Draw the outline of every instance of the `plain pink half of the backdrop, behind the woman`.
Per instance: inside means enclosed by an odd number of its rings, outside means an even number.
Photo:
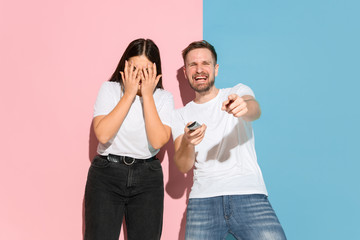
[[[178,70],[181,50],[202,39],[202,1],[131,2],[1,0],[0,239],[82,238],[93,104],[130,41],[153,39],[176,107],[191,98]],[[160,154],[162,239],[183,239],[191,176],[175,169],[172,148]]]

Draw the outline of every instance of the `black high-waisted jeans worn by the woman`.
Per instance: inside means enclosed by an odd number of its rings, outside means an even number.
[[[159,160],[127,166],[96,156],[85,189],[85,240],[118,240],[124,215],[128,240],[158,240],[163,206]]]

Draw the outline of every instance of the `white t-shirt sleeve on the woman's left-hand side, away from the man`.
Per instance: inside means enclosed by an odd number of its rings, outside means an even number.
[[[100,87],[95,101],[93,116],[107,115],[114,109],[114,107],[114,96],[111,91],[111,83],[104,82]]]

